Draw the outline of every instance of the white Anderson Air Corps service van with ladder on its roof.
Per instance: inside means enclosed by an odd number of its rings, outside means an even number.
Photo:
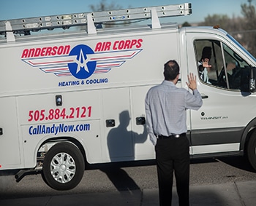
[[[163,64],[200,76],[211,47],[203,98],[187,111],[191,157],[248,154],[256,169],[255,58],[219,28],[160,25],[189,15],[191,4],[0,21],[0,170],[42,170],[53,189],[72,189],[85,163],[154,159],[144,99],[163,80]],[[124,15],[125,14],[125,15]],[[94,24],[151,17],[152,24],[97,29]],[[29,35],[87,25],[86,31]],[[24,35],[23,35],[24,34]]]

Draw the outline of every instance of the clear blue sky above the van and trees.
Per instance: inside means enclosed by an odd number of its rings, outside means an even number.
[[[0,0],[0,20],[49,15],[64,15],[80,12],[91,12],[90,5],[97,5],[102,0]],[[202,22],[208,15],[241,15],[241,4],[248,0],[105,0],[106,4],[118,4],[122,9],[135,7],[153,7],[168,4],[192,3],[192,15],[172,17],[176,23]],[[256,7],[256,0],[252,0]]]

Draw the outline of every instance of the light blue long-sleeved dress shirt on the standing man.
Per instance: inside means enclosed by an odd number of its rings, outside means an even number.
[[[198,110],[202,104],[198,90],[194,90],[192,94],[166,80],[152,87],[145,100],[146,126],[151,142],[157,144],[156,135],[169,136],[187,132],[186,110]]]

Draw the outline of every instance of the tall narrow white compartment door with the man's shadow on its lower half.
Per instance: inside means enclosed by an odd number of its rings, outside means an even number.
[[[102,106],[105,127],[103,161],[134,160],[129,88],[102,90]]]

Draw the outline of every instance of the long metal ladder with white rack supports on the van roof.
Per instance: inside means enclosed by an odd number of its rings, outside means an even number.
[[[69,28],[87,25],[88,33],[97,33],[94,23],[115,22],[121,20],[142,20],[151,18],[152,28],[161,27],[159,17],[173,17],[192,14],[190,3],[173,4],[158,7],[140,7],[135,9],[118,9],[103,12],[73,13],[69,15],[52,15],[29,17],[15,20],[1,20],[0,34],[6,34],[7,41],[15,41],[13,33],[29,34],[30,31],[53,28]]]

